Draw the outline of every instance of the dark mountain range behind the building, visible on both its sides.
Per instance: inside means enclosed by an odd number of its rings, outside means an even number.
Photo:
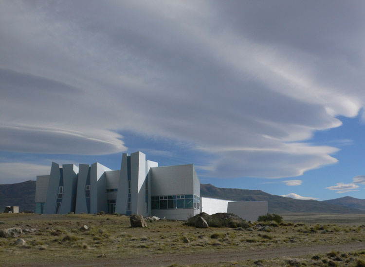
[[[19,206],[20,211],[35,211],[36,181],[0,184],[0,212],[5,206]],[[219,188],[201,184],[201,197],[236,200],[268,201],[269,213],[365,213],[365,200],[344,197],[334,200],[294,200],[261,190]],[[202,203],[204,205],[204,203]]]

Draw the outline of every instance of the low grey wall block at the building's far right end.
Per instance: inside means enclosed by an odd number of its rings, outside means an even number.
[[[229,202],[228,212],[247,221],[256,221],[257,217],[268,213],[268,203],[267,201]]]

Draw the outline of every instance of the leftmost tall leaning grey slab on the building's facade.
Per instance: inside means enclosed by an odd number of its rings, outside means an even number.
[[[54,214],[55,213],[59,180],[60,180],[59,165],[55,162],[52,162],[51,174],[50,174],[50,179],[48,182],[48,189],[47,189],[47,198],[46,198],[46,203],[44,205],[45,214]],[[62,203],[61,203],[61,205],[62,205]]]

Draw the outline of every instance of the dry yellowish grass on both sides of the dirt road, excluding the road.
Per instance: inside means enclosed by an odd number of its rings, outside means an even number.
[[[158,253],[176,253],[215,250],[247,250],[264,248],[292,248],[303,244],[346,244],[353,241],[365,241],[365,226],[329,223],[284,223],[272,226],[272,232],[237,231],[232,228],[196,229],[183,225],[182,221],[148,222],[147,228],[130,228],[129,217],[116,215],[32,215],[0,214],[0,228],[21,227],[36,228],[35,233],[23,234],[27,246],[14,245],[17,238],[0,238],[0,262],[8,266],[16,261],[22,264],[42,262],[82,261],[106,254],[109,258],[126,258],[130,255],[154,255]],[[79,230],[89,226],[88,231]],[[189,243],[184,243],[187,237]],[[328,266],[329,261],[337,266],[350,266],[356,261],[364,261],[364,254],[347,255],[341,252],[336,255],[320,255],[321,264]],[[11,256],[9,256],[11,255]],[[313,256],[313,255],[311,255]],[[304,259],[292,259],[307,266],[317,263],[311,256]],[[334,256],[334,257],[332,257]],[[334,258],[340,257],[341,262]],[[350,260],[351,259],[351,260]],[[327,261],[327,263],[323,263]],[[286,262],[288,259],[264,260],[264,263],[253,261],[226,262],[212,266],[296,266]],[[319,263],[319,262],[318,262]],[[198,265],[197,265],[198,266]],[[199,265],[208,266],[208,265]],[[301,265],[304,266],[304,265]],[[317,265],[321,266],[321,265]]]

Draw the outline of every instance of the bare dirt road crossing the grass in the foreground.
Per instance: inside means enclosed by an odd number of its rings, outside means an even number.
[[[198,248],[197,248],[198,249]],[[104,258],[96,258],[92,261],[85,262],[67,262],[52,263],[54,267],[99,267],[99,266],[169,266],[174,263],[181,265],[199,264],[199,263],[217,263],[224,261],[244,261],[248,259],[271,259],[277,257],[297,257],[302,255],[310,255],[317,253],[327,253],[332,250],[348,252],[353,250],[365,249],[365,242],[355,242],[343,245],[315,245],[315,246],[301,246],[291,249],[277,248],[277,249],[263,249],[263,250],[212,250],[211,252],[197,252],[188,254],[156,254],[145,257],[128,257],[121,259],[111,259],[108,255]],[[198,249],[199,250],[199,249]],[[34,266],[49,266],[47,264],[19,264],[14,266],[34,267]]]

